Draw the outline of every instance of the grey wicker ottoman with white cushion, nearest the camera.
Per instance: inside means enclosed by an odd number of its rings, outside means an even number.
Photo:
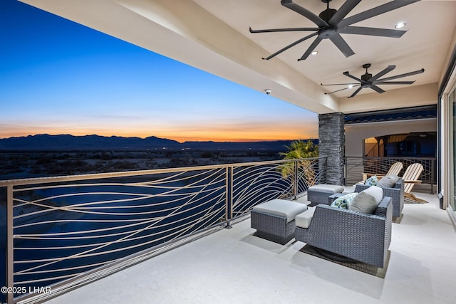
[[[306,210],[306,204],[273,199],[254,206],[250,211],[250,226],[257,229],[254,236],[284,245],[294,238],[294,217]]]

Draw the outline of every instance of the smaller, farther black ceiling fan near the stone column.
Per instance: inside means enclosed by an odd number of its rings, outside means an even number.
[[[352,98],[353,96],[358,94],[359,91],[361,91],[363,88],[371,88],[372,90],[375,90],[375,92],[383,93],[385,91],[382,90],[381,88],[379,88],[377,85],[411,85],[411,84],[415,83],[415,80],[413,80],[413,81],[390,81],[390,80],[395,80],[398,78],[403,78],[403,77],[407,77],[407,76],[411,76],[411,75],[420,74],[425,71],[425,69],[422,68],[421,70],[414,70],[413,72],[380,79],[380,77],[382,77],[386,73],[390,73],[390,71],[394,70],[395,67],[396,67],[395,65],[388,65],[387,68],[385,68],[384,70],[380,71],[380,73],[373,76],[371,73],[368,73],[368,68],[371,68],[371,63],[366,63],[366,64],[363,64],[363,68],[366,68],[366,73],[361,75],[361,79],[356,78],[353,75],[350,75],[350,73],[348,73],[348,71],[343,72],[343,75],[353,78],[354,80],[358,81],[358,83],[331,83],[331,84],[326,84],[326,85],[348,85],[348,88],[343,88],[341,90],[347,90],[349,88],[359,87],[352,95],[348,96],[348,98]],[[320,85],[324,85],[324,84],[320,83]],[[333,92],[325,93],[325,94],[332,94],[332,93],[339,92],[341,90],[335,90]]]

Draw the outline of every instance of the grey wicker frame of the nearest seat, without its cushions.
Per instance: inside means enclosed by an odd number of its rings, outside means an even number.
[[[296,241],[363,263],[385,266],[391,242],[390,197],[383,197],[373,214],[324,204],[315,208],[307,229],[296,226]]]

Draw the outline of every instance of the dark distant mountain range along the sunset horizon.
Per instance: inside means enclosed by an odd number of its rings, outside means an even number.
[[[318,144],[318,140],[313,140]],[[72,151],[72,150],[272,150],[281,151],[291,140],[263,142],[177,142],[155,136],[120,137],[100,135],[28,135],[0,139],[0,150]]]

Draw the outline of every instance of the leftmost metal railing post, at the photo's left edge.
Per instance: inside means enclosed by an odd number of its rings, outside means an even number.
[[[14,231],[13,185],[6,187],[6,286],[14,290]],[[9,304],[14,303],[14,293],[6,294]]]

